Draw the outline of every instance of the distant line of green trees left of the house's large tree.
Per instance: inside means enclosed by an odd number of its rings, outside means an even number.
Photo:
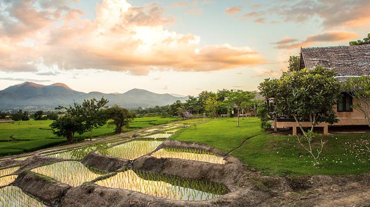
[[[202,115],[215,118],[219,115],[240,116],[256,114],[264,100],[256,98],[256,91],[222,89],[217,92],[202,91],[198,96],[189,96],[185,102],[177,100],[172,105],[134,110],[138,115],[184,116]],[[238,124],[239,125],[239,124]]]

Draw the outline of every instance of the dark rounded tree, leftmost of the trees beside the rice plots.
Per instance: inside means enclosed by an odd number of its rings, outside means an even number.
[[[53,129],[54,134],[66,137],[69,143],[72,142],[76,132],[79,134],[83,134],[85,132],[82,118],[73,117],[70,114],[55,120],[50,124],[50,127]]]

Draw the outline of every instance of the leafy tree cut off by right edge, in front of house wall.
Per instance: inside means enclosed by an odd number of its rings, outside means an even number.
[[[348,78],[344,84],[344,91],[356,100],[351,107],[364,115],[370,127],[370,76]]]

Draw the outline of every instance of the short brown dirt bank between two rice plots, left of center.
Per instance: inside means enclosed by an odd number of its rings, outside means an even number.
[[[90,152],[81,163],[85,166],[106,172],[114,172],[121,168],[127,168],[130,165],[129,160],[104,157],[95,152]]]

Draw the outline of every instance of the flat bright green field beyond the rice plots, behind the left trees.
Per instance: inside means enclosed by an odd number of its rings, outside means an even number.
[[[135,118],[125,131],[165,124],[177,119],[161,117]],[[63,137],[56,137],[49,125],[53,121],[17,121],[0,124],[0,156],[30,152],[66,142]],[[104,125],[93,130],[93,137],[114,134],[114,125]],[[89,138],[90,133],[76,134],[77,140]]]

